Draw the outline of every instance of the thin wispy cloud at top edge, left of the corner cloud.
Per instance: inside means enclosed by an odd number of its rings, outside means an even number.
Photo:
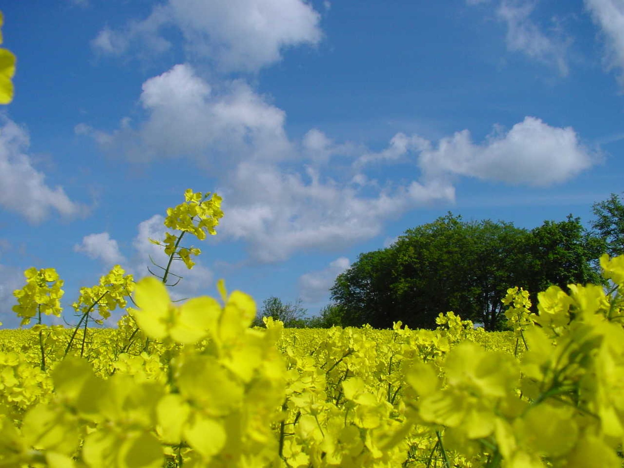
[[[487,0],[466,0],[469,5],[489,2]],[[561,75],[568,74],[567,49],[570,39],[561,31],[545,34],[530,18],[535,9],[535,0],[501,0],[496,16],[507,25],[507,49],[522,52],[544,64],[556,64]],[[556,28],[555,28],[556,29]]]

